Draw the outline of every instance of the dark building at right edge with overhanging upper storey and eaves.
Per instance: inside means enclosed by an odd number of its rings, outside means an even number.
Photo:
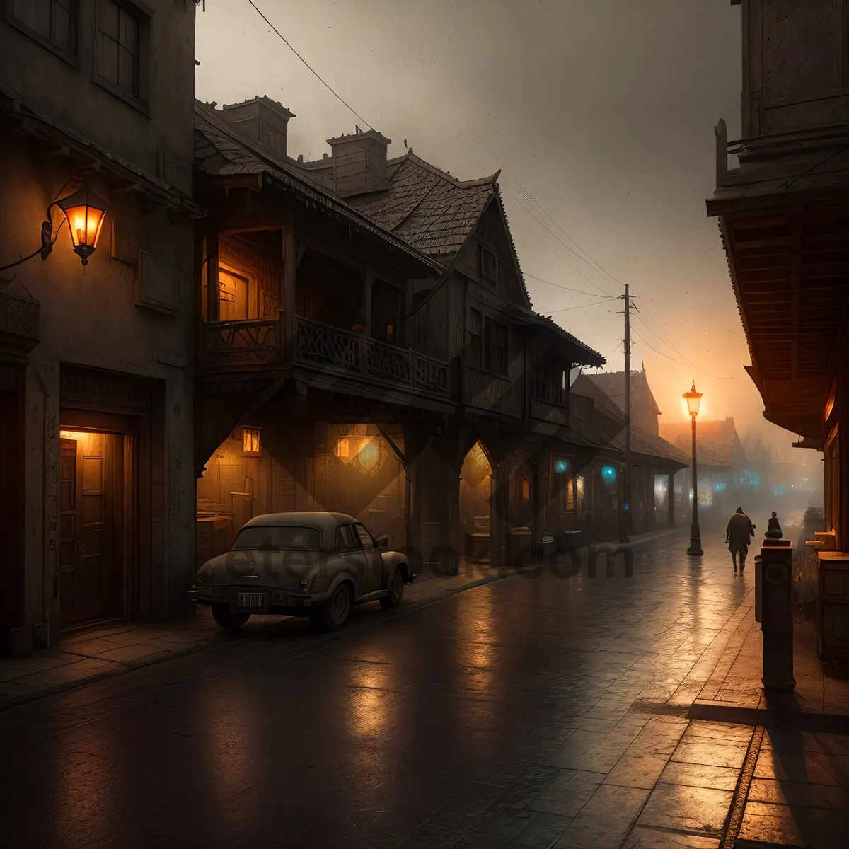
[[[849,547],[846,0],[732,0],[742,135],[717,125],[719,222],[764,416],[824,452],[826,526]],[[734,155],[738,166],[729,166]]]

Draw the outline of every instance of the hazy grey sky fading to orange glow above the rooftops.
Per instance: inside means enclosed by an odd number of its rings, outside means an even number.
[[[621,301],[591,296],[622,289],[576,256],[588,251],[638,295],[632,367],[645,363],[664,417],[683,418],[681,394],[695,379],[706,418],[733,415],[741,434],[754,426],[790,454],[793,436],[762,419],[743,371],[751,360],[717,221],[705,212],[714,124],[725,118],[728,138],[739,138],[739,8],[729,0],[255,2],[392,139],[390,156],[404,153],[406,139],[460,179],[502,169],[538,312],[610,354],[608,370],[623,368],[621,344],[611,353],[623,335]],[[290,155],[318,159],[329,153],[325,139],[363,126],[247,0],[206,0],[196,55],[201,100],[267,94],[295,112]]]

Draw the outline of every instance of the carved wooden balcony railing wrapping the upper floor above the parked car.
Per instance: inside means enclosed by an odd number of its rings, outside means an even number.
[[[283,312],[278,318],[204,323],[199,373],[216,380],[306,373],[323,383],[353,380],[444,401],[450,397],[447,363],[301,316],[294,317],[287,340],[286,326]]]

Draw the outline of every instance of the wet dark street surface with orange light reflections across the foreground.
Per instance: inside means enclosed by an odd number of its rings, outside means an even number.
[[[753,578],[721,539],[685,548],[635,547],[631,578],[585,565],[363,610],[374,627],[331,638],[294,623],[5,711],[5,845],[620,846],[640,817],[716,846],[751,728],[682,739],[683,717]]]

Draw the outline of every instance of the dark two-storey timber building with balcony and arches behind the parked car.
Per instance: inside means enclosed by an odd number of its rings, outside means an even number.
[[[387,160],[374,131],[295,160],[269,98],[195,113],[196,556],[310,507],[425,569],[530,550],[571,369],[604,361],[533,312],[498,175]]]

